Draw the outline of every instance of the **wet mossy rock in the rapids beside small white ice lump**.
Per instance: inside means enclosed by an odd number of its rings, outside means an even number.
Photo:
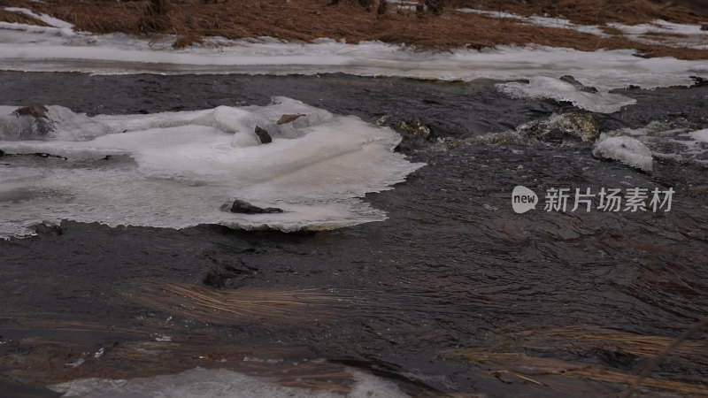
[[[546,120],[534,120],[517,127],[519,133],[544,141],[562,141],[566,137],[594,142],[600,124],[589,113],[554,113]]]

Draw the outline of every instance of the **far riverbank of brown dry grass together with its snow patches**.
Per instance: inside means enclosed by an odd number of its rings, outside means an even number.
[[[73,24],[76,30],[96,34],[171,35],[175,48],[204,43],[215,36],[233,40],[267,36],[296,42],[319,38],[350,43],[381,41],[419,50],[535,44],[584,51],[631,49],[642,57],[708,59],[706,40],[696,42],[690,37],[695,33],[657,25],[658,20],[689,24],[699,32],[706,23],[702,11],[650,0],[584,0],[573,2],[572,7],[544,2],[521,6],[517,2],[458,1],[450,2],[441,15],[417,12],[414,3],[403,1],[389,3],[381,14],[354,2],[328,3],[181,1],[168,2],[169,7],[156,14],[149,11],[147,1],[4,0],[5,7],[13,8],[0,11],[0,20],[42,26],[46,23],[36,16],[45,14]],[[34,12],[35,17],[17,7]],[[647,25],[643,33],[631,33],[642,24]]]

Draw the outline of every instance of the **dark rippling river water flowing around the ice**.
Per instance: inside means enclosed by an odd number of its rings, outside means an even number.
[[[0,93],[3,104],[89,113],[289,96],[372,122],[387,114],[420,120],[458,138],[573,110],[511,99],[490,82],[347,75],[0,73]],[[603,131],[680,118],[708,127],[708,87],[621,93],[637,104],[594,115]],[[433,145],[409,157],[428,165],[366,197],[388,212],[384,222],[278,233],[65,221],[61,234],[0,241],[0,394],[51,395],[42,387],[69,379],[202,366],[297,387],[345,389],[342,369],[355,367],[414,395],[603,396],[626,389],[708,315],[704,166],[662,161],[637,172],[597,160],[581,143]],[[677,192],[670,212],[546,212],[542,203],[515,214],[517,185],[538,194]],[[284,310],[243,312],[254,297]],[[652,372],[655,388],[642,390],[699,394],[708,384],[707,344],[704,331],[695,333]]]

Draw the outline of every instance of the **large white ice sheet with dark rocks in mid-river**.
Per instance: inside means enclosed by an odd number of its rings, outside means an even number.
[[[284,97],[266,107],[90,118],[50,106],[56,130],[22,136],[13,124],[19,118],[7,112],[13,109],[0,109],[1,150],[65,159],[4,157],[4,237],[61,219],[284,231],[351,226],[385,219],[360,197],[390,189],[422,166],[392,151],[400,136],[389,128]],[[283,114],[306,116],[278,125]],[[260,144],[255,126],[273,142]],[[284,212],[231,213],[235,198]]]

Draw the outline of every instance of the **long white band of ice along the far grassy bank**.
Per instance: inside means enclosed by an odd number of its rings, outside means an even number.
[[[127,34],[74,32],[64,21],[46,15],[37,17],[53,27],[0,22],[0,71],[109,75],[348,73],[420,80],[529,80],[501,83],[499,88],[510,96],[552,98],[605,113],[634,103],[625,96],[611,94],[612,89],[688,87],[694,84],[694,76],[708,79],[708,64],[704,61],[635,57],[634,50],[588,52],[500,46],[495,50],[431,52],[383,42],[350,44],[319,39],[304,43],[271,37],[237,41],[212,37],[200,45],[176,50],[171,46],[173,36],[149,41]],[[543,18],[531,20],[550,24]],[[673,25],[673,29],[684,27]],[[564,75],[596,88],[596,93],[558,80]]]

